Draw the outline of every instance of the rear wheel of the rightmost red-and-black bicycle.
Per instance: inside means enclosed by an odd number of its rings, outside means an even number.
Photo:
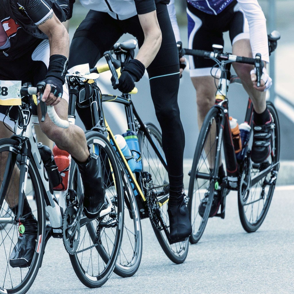
[[[268,161],[261,164],[252,163],[250,156],[248,156],[243,163],[239,180],[239,216],[244,230],[248,233],[255,232],[263,223],[268,213],[279,170],[279,118],[275,106],[269,101],[267,102],[267,106],[274,125],[272,131],[273,148],[271,155]],[[271,166],[274,166],[274,168],[270,168]],[[266,169],[269,169],[267,173],[264,172]]]

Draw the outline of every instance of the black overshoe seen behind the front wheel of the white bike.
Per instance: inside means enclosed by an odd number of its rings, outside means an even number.
[[[18,206],[11,210],[17,215]],[[26,198],[24,200],[23,217],[25,218],[23,223],[25,231],[19,236],[9,257],[9,264],[12,268],[30,266],[36,250],[38,225]]]

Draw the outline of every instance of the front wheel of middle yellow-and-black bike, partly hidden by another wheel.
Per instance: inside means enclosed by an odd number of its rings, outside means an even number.
[[[136,196],[128,179],[128,174],[120,162],[124,191],[123,240],[114,273],[122,278],[136,273],[142,258],[142,228]]]

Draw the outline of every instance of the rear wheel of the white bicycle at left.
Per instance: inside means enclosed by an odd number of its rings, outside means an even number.
[[[124,221],[123,187],[113,147],[101,133],[86,133],[87,144],[101,160],[106,195],[112,203],[112,211],[106,216],[84,224],[81,218],[80,240],[76,253],[69,255],[79,280],[89,288],[101,287],[110,278],[121,248]],[[70,187],[83,193],[80,173],[74,161],[71,164]],[[101,223],[113,222],[107,227]]]

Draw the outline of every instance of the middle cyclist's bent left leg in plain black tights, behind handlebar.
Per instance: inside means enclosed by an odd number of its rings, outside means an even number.
[[[110,50],[123,35],[118,21],[108,13],[90,10],[76,29],[69,50],[69,66],[88,63],[93,68],[103,53]],[[91,54],[89,54],[91,52]],[[91,108],[76,107],[86,130],[92,128]]]

